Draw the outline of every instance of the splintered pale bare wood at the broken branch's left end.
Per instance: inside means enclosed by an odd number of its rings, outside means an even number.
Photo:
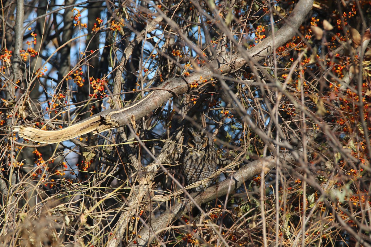
[[[101,126],[102,122],[102,116],[92,116],[91,118],[60,130],[40,130],[32,127],[15,126],[13,127],[13,131],[18,132],[19,137],[27,140],[39,143],[59,143],[91,131],[93,131],[93,134],[97,134],[111,129],[111,126]]]

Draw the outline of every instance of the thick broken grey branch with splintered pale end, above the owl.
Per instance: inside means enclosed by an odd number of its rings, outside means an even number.
[[[269,36],[261,43],[257,44],[252,49],[248,50],[248,56],[253,61],[259,61],[264,57],[272,54],[273,39],[275,46],[281,46],[286,41],[291,39],[296,34],[301,23],[305,20],[309,10],[311,10],[313,0],[301,0],[296,4],[290,17],[279,29],[275,37]],[[19,132],[19,136],[40,143],[58,143],[60,141],[69,140],[93,131],[93,133],[101,133],[106,130],[125,126],[135,119],[140,119],[146,116],[158,106],[165,103],[174,94],[184,94],[188,90],[190,83],[204,83],[213,78],[216,74],[228,74],[232,69],[241,68],[247,63],[246,54],[237,53],[236,55],[227,57],[220,56],[217,59],[208,63],[207,66],[200,68],[200,71],[191,73],[185,80],[181,78],[171,78],[162,83],[158,88],[163,90],[152,91],[146,97],[133,103],[130,106],[122,109],[105,110],[95,114],[88,119],[82,120],[79,123],[73,124],[61,130],[39,130],[31,127],[16,126],[14,131]],[[200,81],[202,78],[202,81]]]

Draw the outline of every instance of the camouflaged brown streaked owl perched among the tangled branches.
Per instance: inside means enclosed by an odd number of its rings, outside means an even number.
[[[216,170],[216,151],[213,140],[205,131],[197,132],[188,128],[187,146],[180,156],[181,171],[186,185],[206,179]],[[193,188],[192,191],[204,191],[212,180],[204,185]]]

